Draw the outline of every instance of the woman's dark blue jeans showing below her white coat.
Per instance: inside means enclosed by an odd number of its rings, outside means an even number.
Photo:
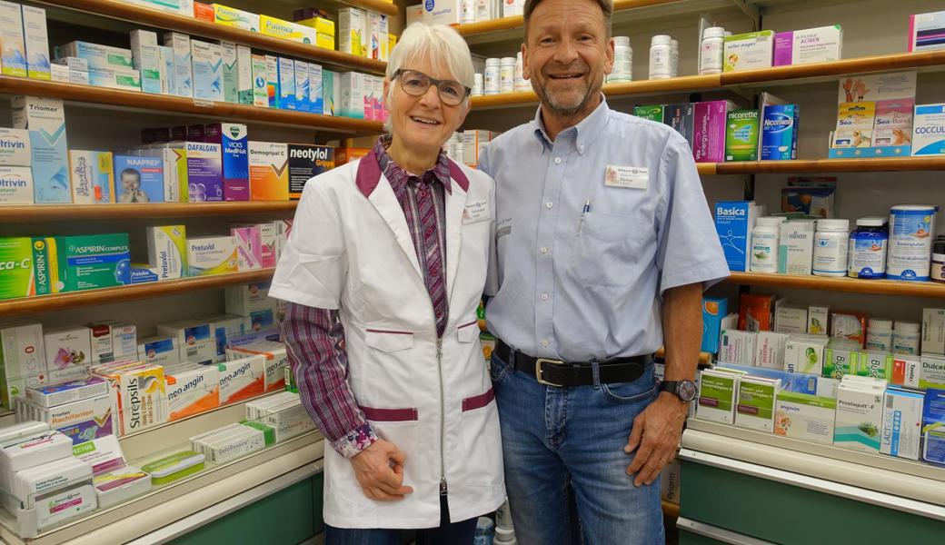
[[[450,522],[446,496],[439,497],[439,526],[417,531],[417,545],[472,545],[476,519]],[[400,545],[407,530],[335,528],[325,525],[325,545]]]

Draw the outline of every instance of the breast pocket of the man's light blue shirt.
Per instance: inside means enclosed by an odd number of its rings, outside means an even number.
[[[652,256],[653,229],[639,213],[584,214],[572,242],[569,270],[576,281],[593,286],[632,284],[637,265]]]

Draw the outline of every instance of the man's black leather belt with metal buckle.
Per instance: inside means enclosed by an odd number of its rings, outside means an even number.
[[[512,353],[514,352],[514,358]],[[547,358],[534,358],[513,350],[501,340],[496,342],[495,353],[506,364],[514,361],[515,370],[528,373],[539,383],[548,386],[591,386],[593,366],[590,362],[574,363]],[[646,366],[653,362],[649,354],[630,358],[614,358],[597,362],[598,381],[603,384],[629,383],[643,376]]]

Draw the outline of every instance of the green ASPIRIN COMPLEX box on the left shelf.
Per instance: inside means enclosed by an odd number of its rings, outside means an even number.
[[[58,236],[54,240],[60,291],[127,285],[130,281],[128,233]]]

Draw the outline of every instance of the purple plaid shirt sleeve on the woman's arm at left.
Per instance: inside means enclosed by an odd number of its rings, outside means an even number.
[[[344,335],[337,311],[287,303],[283,336],[302,404],[332,448],[351,458],[378,436],[348,385]]]

